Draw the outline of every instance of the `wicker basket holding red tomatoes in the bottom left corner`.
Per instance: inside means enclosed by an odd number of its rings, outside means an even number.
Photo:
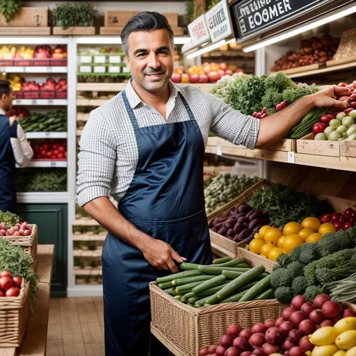
[[[17,297],[0,297],[0,348],[21,346],[29,318],[29,282],[22,280]]]

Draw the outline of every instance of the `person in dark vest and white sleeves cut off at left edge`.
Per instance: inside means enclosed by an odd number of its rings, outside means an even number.
[[[6,116],[13,99],[10,83],[0,80],[0,210],[16,213],[15,164],[24,167],[33,151],[17,120]]]

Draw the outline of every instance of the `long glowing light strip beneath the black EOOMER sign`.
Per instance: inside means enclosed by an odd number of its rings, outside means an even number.
[[[251,52],[255,51],[256,49],[266,47],[270,44],[274,44],[283,40],[286,40],[288,38],[291,38],[296,35],[300,35],[300,33],[315,29],[318,26],[322,26],[324,24],[328,24],[329,22],[335,21],[337,19],[341,19],[341,17],[345,17],[347,15],[353,14],[356,12],[356,6],[353,6],[351,8],[347,8],[345,10],[340,11],[339,13],[324,17],[323,19],[319,19],[312,24],[307,24],[305,26],[300,26],[298,29],[294,29],[292,31],[282,33],[282,35],[277,35],[273,38],[269,38],[268,40],[261,41],[257,44],[252,44],[251,46],[245,47],[243,49],[244,52]]]

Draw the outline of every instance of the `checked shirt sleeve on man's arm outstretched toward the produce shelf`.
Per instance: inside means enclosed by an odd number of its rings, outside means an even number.
[[[253,149],[259,135],[259,119],[244,115],[225,104],[218,97],[209,94],[212,120],[211,131],[234,145]]]

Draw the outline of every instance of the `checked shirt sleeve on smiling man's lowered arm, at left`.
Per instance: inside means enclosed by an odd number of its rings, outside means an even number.
[[[80,207],[97,197],[107,197],[115,167],[116,149],[102,114],[90,113],[81,134],[76,195]]]

